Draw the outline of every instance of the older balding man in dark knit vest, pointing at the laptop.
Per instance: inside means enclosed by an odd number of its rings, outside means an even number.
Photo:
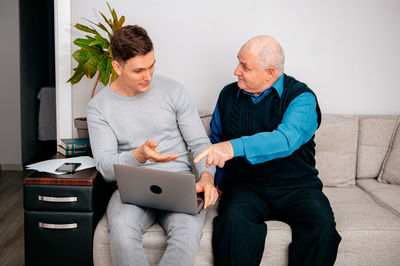
[[[195,158],[220,168],[215,265],[259,265],[267,220],[292,229],[289,265],[333,265],[341,237],[315,168],[316,96],[284,74],[283,50],[269,36],[249,40],[238,60],[238,82],[223,88],[211,121],[216,144]]]

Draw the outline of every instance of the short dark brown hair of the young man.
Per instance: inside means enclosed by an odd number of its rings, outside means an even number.
[[[124,26],[116,30],[111,37],[111,52],[114,60],[123,61],[145,55],[153,50],[147,31],[140,26]]]

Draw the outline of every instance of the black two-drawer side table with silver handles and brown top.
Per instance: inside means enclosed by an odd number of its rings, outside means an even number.
[[[95,168],[24,179],[25,264],[93,265],[94,229],[115,185]]]

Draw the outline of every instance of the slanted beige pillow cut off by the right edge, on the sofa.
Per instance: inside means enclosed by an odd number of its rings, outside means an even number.
[[[400,118],[378,180],[400,185]]]

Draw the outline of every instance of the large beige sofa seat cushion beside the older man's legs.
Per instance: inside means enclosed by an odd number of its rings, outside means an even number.
[[[357,186],[327,187],[324,193],[331,202],[336,228],[342,236],[336,266],[398,265],[398,216],[382,208]]]

